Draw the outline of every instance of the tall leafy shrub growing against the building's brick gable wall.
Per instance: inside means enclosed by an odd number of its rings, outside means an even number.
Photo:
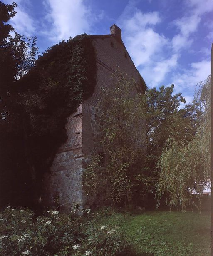
[[[111,88],[102,89],[99,108],[105,111],[101,145],[106,165],[101,167],[99,156],[94,156],[84,172],[84,185],[87,194],[99,193],[119,203],[131,198],[138,183],[136,166],[146,147],[146,101],[137,93],[136,82],[120,74]]]

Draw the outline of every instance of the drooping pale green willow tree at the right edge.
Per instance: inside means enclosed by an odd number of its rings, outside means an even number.
[[[157,184],[158,204],[163,194],[169,206],[193,204],[193,191],[200,202],[209,186],[211,143],[211,76],[200,82],[193,104],[201,110],[199,125],[191,141],[170,136],[159,158],[161,174]]]

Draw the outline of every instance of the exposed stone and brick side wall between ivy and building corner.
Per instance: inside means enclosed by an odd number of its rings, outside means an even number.
[[[67,120],[67,141],[45,176],[45,204],[70,209],[82,205],[82,106]]]

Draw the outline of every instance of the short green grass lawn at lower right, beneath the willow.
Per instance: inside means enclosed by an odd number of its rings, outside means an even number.
[[[94,225],[118,226],[131,244],[132,256],[208,256],[210,219],[210,212],[113,212],[100,216]]]

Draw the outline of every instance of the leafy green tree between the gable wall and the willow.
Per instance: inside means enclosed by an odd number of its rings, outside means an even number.
[[[147,99],[147,158],[144,170],[144,195],[153,194],[159,180],[160,168],[158,160],[163,152],[166,140],[170,134],[176,139],[190,141],[196,130],[199,110],[194,105],[186,105],[178,110],[181,103],[185,103],[181,93],[173,94],[174,85],[159,89],[151,88],[146,91]],[[145,196],[145,198],[146,198]],[[146,199],[149,203],[148,197]]]

